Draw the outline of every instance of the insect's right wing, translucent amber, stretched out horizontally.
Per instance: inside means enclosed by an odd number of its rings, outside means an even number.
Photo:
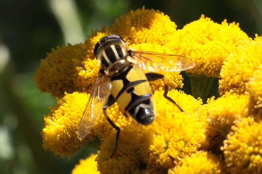
[[[149,71],[184,71],[195,66],[192,59],[182,55],[149,51],[131,51],[131,55],[134,60],[128,60],[129,62]]]

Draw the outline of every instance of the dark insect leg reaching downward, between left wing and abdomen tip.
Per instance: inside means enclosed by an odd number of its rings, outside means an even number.
[[[110,123],[110,125],[115,129],[117,130],[116,132],[116,142],[115,142],[115,147],[114,147],[114,152],[113,154],[110,156],[110,158],[112,158],[112,156],[114,155],[115,151],[116,151],[116,148],[117,148],[117,143],[118,143],[118,138],[119,138],[119,135],[120,135],[120,127],[117,127],[113,122],[112,120],[109,118],[107,112],[106,112],[106,109],[111,106],[112,104],[115,103],[115,98],[112,96],[112,94],[110,94],[108,96],[108,98],[106,99],[104,105],[103,105],[103,112],[104,112],[104,115],[107,119],[107,121]]]

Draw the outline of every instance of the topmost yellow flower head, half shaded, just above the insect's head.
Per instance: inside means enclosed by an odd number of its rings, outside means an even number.
[[[111,27],[127,44],[157,43],[165,45],[172,40],[176,32],[176,24],[169,16],[158,10],[148,10],[145,7],[131,10],[129,13],[115,19]]]

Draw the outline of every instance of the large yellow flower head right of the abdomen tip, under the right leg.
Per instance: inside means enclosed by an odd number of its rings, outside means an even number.
[[[155,121],[152,127],[155,134],[150,145],[148,163],[170,168],[181,158],[196,152],[206,141],[205,118],[198,112],[202,101],[172,90],[168,93],[185,112],[181,112],[173,103],[162,96],[163,91],[156,91],[153,98],[156,106]]]

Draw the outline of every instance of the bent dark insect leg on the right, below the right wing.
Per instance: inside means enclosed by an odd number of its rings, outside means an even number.
[[[148,79],[148,81],[155,81],[157,79],[162,78],[163,82],[164,82],[164,98],[168,99],[169,101],[171,101],[172,103],[174,103],[181,112],[185,112],[171,97],[168,96],[168,84],[166,82],[166,79],[164,77],[163,74],[158,74],[158,73],[153,73],[153,72],[149,72],[146,73],[146,77]]]

